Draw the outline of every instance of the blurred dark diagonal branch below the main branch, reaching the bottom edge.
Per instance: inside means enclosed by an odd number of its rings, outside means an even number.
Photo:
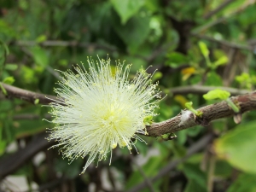
[[[177,167],[177,165],[179,163],[182,163],[183,161],[187,160],[192,154],[195,154],[195,153],[201,151],[201,149],[205,148],[208,143],[212,142],[212,139],[213,139],[212,134],[208,134],[208,135],[202,137],[198,142],[194,143],[191,147],[188,148],[187,154],[183,158],[173,160],[167,166],[163,167],[155,177],[148,178],[149,182],[154,183],[155,181],[157,181],[161,177],[165,176],[172,169]],[[146,181],[144,181],[143,183],[137,184],[135,187],[133,187],[132,189],[129,189],[127,192],[141,191],[145,187],[147,187]]]

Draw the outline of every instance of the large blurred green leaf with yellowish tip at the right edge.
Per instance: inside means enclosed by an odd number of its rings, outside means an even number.
[[[216,154],[232,166],[249,173],[256,173],[256,120],[237,125],[236,129],[214,143]]]

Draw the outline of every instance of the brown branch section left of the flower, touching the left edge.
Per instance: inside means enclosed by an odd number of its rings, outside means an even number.
[[[35,101],[38,99],[38,103],[40,104],[49,104],[49,102],[53,102],[53,100],[58,100],[56,96],[44,95],[36,92],[32,92],[30,90],[22,90],[18,87],[3,84],[3,88],[7,91],[8,97],[15,97],[21,100],[25,100],[26,102],[32,102],[35,104]]]

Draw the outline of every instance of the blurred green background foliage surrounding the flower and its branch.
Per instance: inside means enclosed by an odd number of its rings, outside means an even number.
[[[254,90],[255,0],[0,0],[1,81],[54,95],[60,73],[88,56],[132,63],[154,73],[167,94],[155,122],[212,102],[206,86]],[[195,91],[196,85],[201,91]],[[191,88],[189,88],[191,87]],[[176,88],[187,88],[174,91]],[[176,89],[177,90],[177,89]],[[233,94],[236,95],[236,94]],[[0,191],[256,191],[255,112],[241,125],[219,119],[177,132],[177,139],[143,137],[140,154],[113,151],[79,175],[85,160],[68,165],[44,140],[49,108],[0,95]],[[134,114],[136,115],[136,114]],[[207,134],[215,139],[185,156]],[[166,174],[161,170],[176,162]],[[3,165],[3,164],[2,164]],[[20,179],[20,180],[19,180]],[[19,180],[19,181],[18,181]],[[146,181],[143,189],[137,184]]]

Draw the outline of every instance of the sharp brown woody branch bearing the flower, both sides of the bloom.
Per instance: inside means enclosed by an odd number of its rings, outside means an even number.
[[[22,90],[15,86],[9,84],[3,84],[4,89],[7,91],[8,96],[14,96],[20,99],[24,99],[27,102],[34,103],[36,99],[39,99],[39,103],[49,104],[49,102],[57,101],[56,96],[48,96],[43,94],[38,94],[29,90]],[[195,85],[196,86],[196,85]],[[190,90],[192,90],[193,86],[190,86]],[[212,87],[211,87],[212,88]],[[225,88],[232,91],[232,88]],[[201,91],[201,90],[200,90]],[[241,90],[244,92],[246,90]],[[176,93],[178,91],[176,90]],[[233,90],[233,93],[239,93],[238,90]],[[46,97],[47,96],[47,97]],[[53,99],[53,100],[51,100]],[[55,101],[54,101],[55,100]],[[230,98],[232,102],[234,102],[238,108],[240,108],[240,114],[245,113],[247,111],[256,109],[256,91],[252,93],[248,93],[241,96],[233,96]],[[60,102],[60,104],[63,104]],[[207,126],[214,119],[227,118],[231,116],[236,116],[235,113],[227,104],[227,102],[218,102],[212,105],[205,106],[203,108],[198,108],[197,110],[203,113],[202,117],[196,117],[194,113],[190,113],[189,118],[186,119],[182,124],[181,116],[179,113],[177,116],[172,119],[167,119],[166,121],[162,121],[160,123],[154,123],[153,125],[147,125],[146,129],[148,131],[148,137],[160,137],[166,133],[172,133],[176,131],[181,131],[184,129],[188,129],[195,125]]]

